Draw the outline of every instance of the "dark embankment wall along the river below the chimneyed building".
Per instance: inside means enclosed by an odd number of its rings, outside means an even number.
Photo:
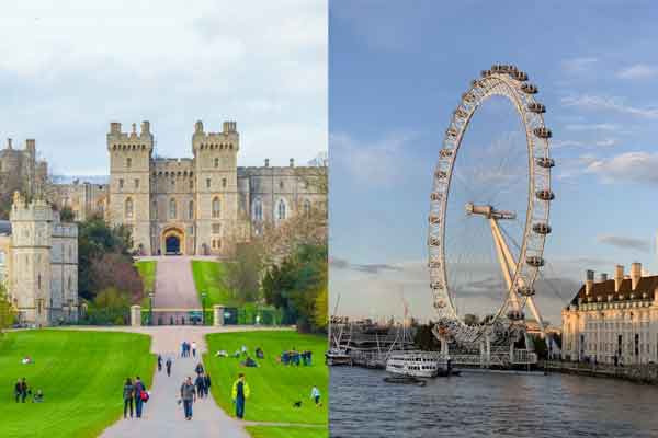
[[[545,361],[542,368],[548,372],[602,377],[610,379],[631,380],[637,383],[658,384],[658,365],[639,364],[614,366],[606,364],[586,364],[568,361]]]

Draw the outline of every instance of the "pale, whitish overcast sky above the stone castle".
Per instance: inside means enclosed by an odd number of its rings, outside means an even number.
[[[151,122],[191,157],[194,123],[236,120],[239,165],[327,150],[327,2],[25,0],[0,4],[0,138],[55,174],[105,175],[110,122]]]

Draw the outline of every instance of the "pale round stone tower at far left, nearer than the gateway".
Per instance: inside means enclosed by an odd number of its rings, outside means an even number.
[[[53,210],[43,199],[26,204],[16,192],[10,220],[10,293],[16,299],[23,322],[49,325],[56,304],[50,290]]]

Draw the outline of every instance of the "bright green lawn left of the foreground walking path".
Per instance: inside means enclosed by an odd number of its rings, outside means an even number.
[[[150,388],[150,338],[131,333],[39,330],[7,333],[0,341],[0,437],[95,437],[123,413],[122,388],[140,376]],[[21,359],[31,356],[33,365]],[[43,403],[15,403],[13,385],[25,377]]]

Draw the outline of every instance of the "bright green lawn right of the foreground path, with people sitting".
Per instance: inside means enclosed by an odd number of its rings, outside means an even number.
[[[231,416],[235,415],[235,407],[230,399],[230,389],[237,374],[243,372],[251,390],[251,396],[247,400],[245,408],[247,420],[328,424],[329,371],[324,360],[327,349],[326,336],[300,335],[295,331],[219,333],[207,335],[207,343],[211,353],[204,356],[204,362],[213,378],[213,396],[219,406]],[[259,368],[242,368],[239,366],[241,359],[215,357],[217,350],[224,349],[232,353],[242,345],[246,345],[251,353],[259,346],[263,349],[265,359],[257,359]],[[311,350],[313,366],[283,366],[276,361],[276,356],[281,351],[293,347],[297,350]],[[314,384],[321,393],[322,406],[319,408],[310,400],[310,390]],[[293,403],[296,401],[302,401],[300,408],[293,407]],[[273,434],[277,433],[277,429],[273,427],[263,429]],[[298,436],[321,437],[326,436],[326,431],[327,429],[322,428],[307,428],[304,433],[320,435],[303,434]],[[291,434],[293,433],[297,434],[291,428]]]

